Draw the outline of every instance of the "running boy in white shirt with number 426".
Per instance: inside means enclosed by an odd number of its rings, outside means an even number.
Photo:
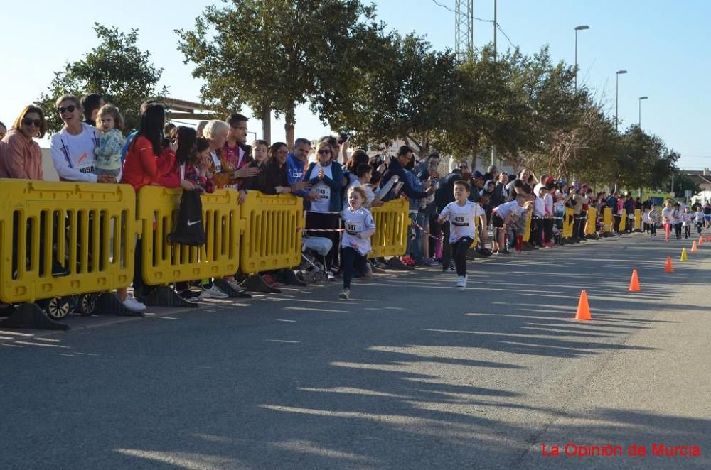
[[[449,219],[449,244],[456,266],[456,287],[466,288],[466,251],[474,241],[476,217],[481,219],[481,238],[486,243],[486,211],[479,204],[469,201],[469,185],[464,181],[454,182],[454,202],[450,202],[440,212],[438,222],[444,224]]]

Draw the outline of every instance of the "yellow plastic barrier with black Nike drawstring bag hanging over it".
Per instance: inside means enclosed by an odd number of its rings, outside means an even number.
[[[181,189],[159,186],[146,186],[139,192],[137,219],[143,226],[142,275],[148,285],[222,278],[235,274],[240,267],[239,193],[217,190],[202,196],[207,243],[199,247],[168,242],[182,193]]]

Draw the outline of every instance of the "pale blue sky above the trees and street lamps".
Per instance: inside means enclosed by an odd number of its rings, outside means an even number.
[[[454,9],[455,0],[438,0]],[[154,64],[165,69],[163,83],[172,97],[198,100],[201,83],[191,77],[176,50],[176,28],[191,28],[209,0],[122,4],[73,4],[38,0],[31,4],[6,2],[0,72],[0,121],[14,120],[25,104],[36,99],[65,62],[77,60],[97,44],[92,23],[139,29],[139,45],[151,52]],[[435,48],[454,48],[454,13],[432,0],[375,1],[378,16],[402,33],[415,31]],[[493,18],[493,0],[474,0],[474,15]],[[683,168],[711,166],[711,144],[706,138],[711,76],[707,28],[711,2],[702,0],[498,0],[498,23],[524,53],[550,45],[555,60],[574,61],[574,27],[579,33],[579,81],[594,88],[614,115],[615,71],[628,70],[619,82],[619,116],[624,125],[638,120],[682,153]],[[308,25],[304,25],[308,28]],[[475,21],[474,40],[493,39],[491,23]],[[498,35],[499,48],[509,46]],[[272,125],[272,138],[283,138],[282,123]],[[260,131],[251,122],[252,131]],[[301,109],[296,134],[316,138],[328,129],[316,116]]]

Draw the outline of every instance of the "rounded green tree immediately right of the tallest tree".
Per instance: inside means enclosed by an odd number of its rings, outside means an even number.
[[[456,86],[456,58],[450,50],[432,50],[415,34],[391,33],[370,48],[370,63],[360,62],[347,106],[319,101],[333,129],[356,131],[354,142],[389,143],[407,138],[420,155],[429,152],[432,135],[444,129]],[[324,97],[326,98],[326,97]]]

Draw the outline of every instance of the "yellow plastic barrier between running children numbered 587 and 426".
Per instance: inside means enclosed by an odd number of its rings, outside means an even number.
[[[401,198],[388,201],[381,207],[373,207],[375,234],[370,238],[371,258],[400,256],[407,249],[407,227],[410,217],[407,211],[410,202]]]

